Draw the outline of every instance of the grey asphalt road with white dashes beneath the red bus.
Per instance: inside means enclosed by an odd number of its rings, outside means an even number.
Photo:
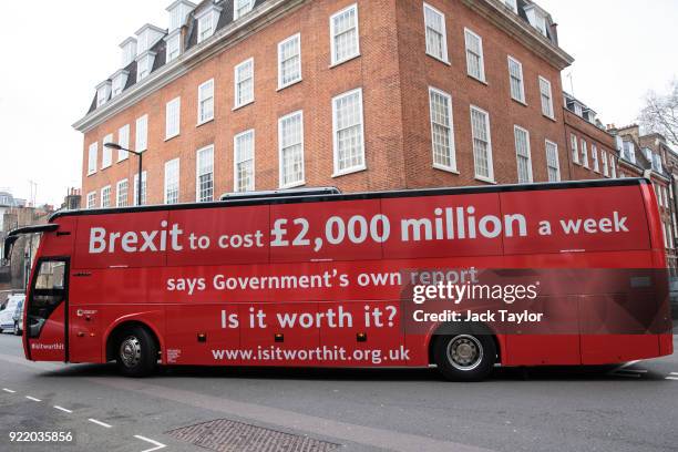
[[[125,379],[110,364],[25,361],[20,338],[3,333],[0,389],[0,451],[678,450],[678,356],[497,369],[481,383],[433,369],[166,368]],[[10,442],[17,431],[74,441]],[[284,443],[297,449],[266,449]]]

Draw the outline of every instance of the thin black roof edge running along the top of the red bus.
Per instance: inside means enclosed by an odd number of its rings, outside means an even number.
[[[414,197],[414,196],[440,196],[440,195],[461,195],[461,194],[480,194],[480,193],[503,193],[503,192],[535,192],[546,189],[564,189],[564,188],[594,188],[608,186],[629,186],[650,184],[647,178],[643,177],[625,177],[616,179],[593,179],[593,181],[567,181],[567,182],[549,182],[549,183],[533,183],[533,184],[511,184],[511,185],[482,185],[482,186],[463,186],[463,187],[443,187],[443,188],[417,188],[401,189],[391,192],[359,192],[347,194],[318,194],[299,195],[298,193],[290,196],[282,196],[279,192],[275,196],[261,196],[256,192],[256,196],[251,197],[234,197],[224,201],[215,201],[209,203],[183,203],[183,204],[153,204],[146,206],[129,206],[129,207],[112,207],[112,208],[95,208],[95,209],[78,209],[78,210],[60,210],[50,216],[49,222],[66,216],[83,216],[83,215],[109,215],[124,214],[135,212],[162,212],[162,210],[185,210],[196,208],[218,208],[225,206],[251,206],[267,204],[300,204],[309,202],[327,202],[327,201],[357,201],[357,199],[374,199],[374,198],[393,198],[393,197]]]

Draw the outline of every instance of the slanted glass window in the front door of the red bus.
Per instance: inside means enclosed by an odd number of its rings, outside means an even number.
[[[65,261],[43,260],[40,263],[28,311],[29,338],[37,338],[44,322],[65,299]]]

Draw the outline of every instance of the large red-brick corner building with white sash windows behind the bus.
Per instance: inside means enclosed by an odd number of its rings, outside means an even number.
[[[167,29],[146,24],[121,44],[121,66],[74,124],[86,207],[135,199],[136,157],[106,142],[143,152],[148,204],[576,175],[561,84],[573,60],[532,1],[177,0],[167,11]]]

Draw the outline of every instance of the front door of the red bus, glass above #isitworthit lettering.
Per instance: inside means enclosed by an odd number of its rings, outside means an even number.
[[[27,357],[34,361],[68,360],[69,259],[38,260],[24,309]]]

